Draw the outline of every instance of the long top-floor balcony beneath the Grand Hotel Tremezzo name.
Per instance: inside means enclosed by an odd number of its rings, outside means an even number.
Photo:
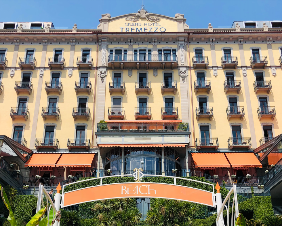
[[[112,55],[108,56],[108,67],[114,69],[125,69],[128,67],[139,69],[150,69],[157,67],[160,69],[177,69],[177,56],[171,54],[136,54],[136,55]]]

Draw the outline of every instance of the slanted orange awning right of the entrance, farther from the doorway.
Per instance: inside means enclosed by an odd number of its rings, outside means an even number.
[[[259,167],[262,168],[262,164],[258,161],[258,158],[254,153],[225,153],[232,167]]]

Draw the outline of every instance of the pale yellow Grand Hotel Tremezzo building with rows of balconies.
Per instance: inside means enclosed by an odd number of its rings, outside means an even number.
[[[142,167],[281,198],[265,174],[282,158],[281,36],[282,21],[189,29],[144,9],[97,29],[0,22],[1,183]]]

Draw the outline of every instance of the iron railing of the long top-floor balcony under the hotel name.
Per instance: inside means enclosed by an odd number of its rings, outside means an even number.
[[[134,55],[122,55],[122,54],[110,54],[108,56],[108,62],[168,62],[177,61],[177,56],[174,54],[134,54]]]

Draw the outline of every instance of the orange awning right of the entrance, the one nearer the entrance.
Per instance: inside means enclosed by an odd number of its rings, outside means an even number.
[[[195,167],[228,167],[224,153],[192,153]]]

